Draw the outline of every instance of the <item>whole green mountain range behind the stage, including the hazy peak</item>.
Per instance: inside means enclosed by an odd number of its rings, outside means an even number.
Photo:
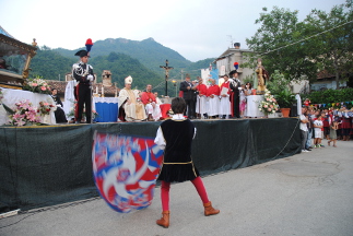
[[[75,50],[63,48],[50,49],[46,46],[37,50],[37,55],[31,62],[31,76],[39,75],[48,80],[64,80],[64,74],[71,72],[71,67],[78,62],[79,58],[74,54],[85,49],[84,47]],[[133,78],[133,87],[143,90],[148,83],[151,83],[155,91],[165,94],[165,70],[160,66],[165,66],[168,59],[169,71],[168,94],[174,94],[177,87],[173,80],[185,78],[186,73],[191,79],[199,76],[200,69],[209,68],[214,58],[191,62],[185,59],[177,51],[164,47],[153,38],[141,42],[129,40],[125,38],[108,38],[94,43],[90,52],[89,63],[93,66],[94,72],[101,82],[103,70],[110,70],[113,83],[117,86],[123,86],[123,79],[128,75]],[[59,75],[60,74],[60,75]]]

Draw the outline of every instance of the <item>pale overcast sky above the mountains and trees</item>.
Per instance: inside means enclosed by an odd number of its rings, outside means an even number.
[[[344,0],[0,0],[0,25],[16,39],[77,49],[87,38],[153,37],[191,61],[217,57],[255,35],[261,9],[330,11]],[[94,47],[93,47],[94,50]]]

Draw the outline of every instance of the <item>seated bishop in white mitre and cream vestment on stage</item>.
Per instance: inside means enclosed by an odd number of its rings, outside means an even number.
[[[141,121],[148,118],[139,97],[139,91],[131,90],[131,84],[132,78],[129,75],[125,79],[125,87],[119,92],[119,121]]]

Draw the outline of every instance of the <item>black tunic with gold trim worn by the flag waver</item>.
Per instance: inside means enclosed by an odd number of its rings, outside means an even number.
[[[199,176],[191,160],[193,123],[189,119],[169,119],[161,123],[161,129],[166,146],[158,180],[167,182],[193,180]]]

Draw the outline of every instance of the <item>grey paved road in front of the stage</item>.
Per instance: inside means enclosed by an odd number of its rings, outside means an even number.
[[[326,143],[326,141],[323,142]],[[203,216],[190,182],[170,189],[170,226],[160,217],[160,188],[129,214],[102,199],[0,220],[0,235],[353,235],[353,141],[204,177],[219,215]]]

